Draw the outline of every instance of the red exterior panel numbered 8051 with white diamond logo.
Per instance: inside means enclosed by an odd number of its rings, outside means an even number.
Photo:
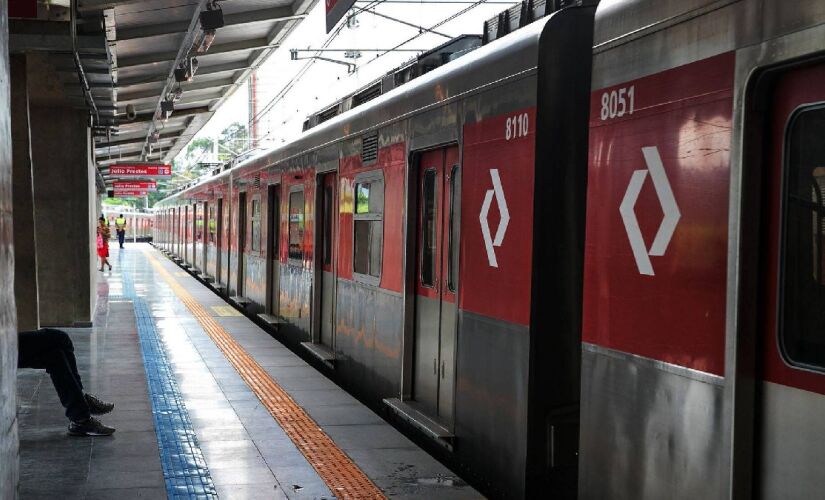
[[[585,342],[724,374],[733,74],[726,53],[592,93]]]

